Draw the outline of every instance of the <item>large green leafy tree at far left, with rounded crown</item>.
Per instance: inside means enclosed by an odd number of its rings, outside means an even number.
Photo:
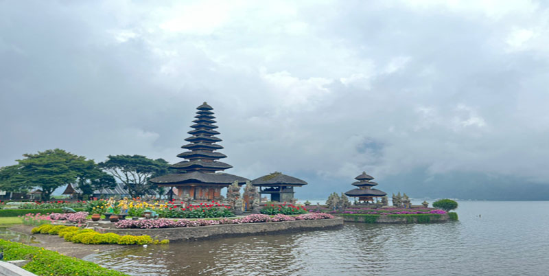
[[[49,200],[51,193],[62,185],[74,183],[78,168],[85,166],[86,157],[81,157],[56,148],[37,154],[23,154],[19,162],[19,177],[27,187],[39,187],[42,200]]]

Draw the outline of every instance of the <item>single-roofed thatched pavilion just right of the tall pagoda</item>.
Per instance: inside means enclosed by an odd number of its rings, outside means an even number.
[[[259,187],[259,194],[270,194],[271,201],[293,202],[294,187],[307,185],[307,182],[281,172],[273,172],[254,179],[252,185]]]

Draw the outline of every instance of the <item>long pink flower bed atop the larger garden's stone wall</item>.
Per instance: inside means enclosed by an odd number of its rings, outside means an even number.
[[[279,222],[279,221],[292,221],[292,220],[323,220],[328,218],[334,218],[330,214],[323,213],[309,213],[300,216],[286,216],[278,214],[272,218],[264,214],[253,214],[245,216],[244,218],[222,218],[219,220],[169,220],[167,218],[159,218],[157,220],[120,220],[115,223],[116,228],[140,228],[140,229],[158,229],[158,228],[173,228],[173,227],[200,227],[208,225],[232,225],[241,223],[256,223],[256,222]]]

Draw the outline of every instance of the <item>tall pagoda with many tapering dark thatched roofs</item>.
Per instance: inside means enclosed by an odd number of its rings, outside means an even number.
[[[159,176],[150,181],[156,185],[176,187],[178,198],[220,200],[222,188],[229,187],[235,181],[244,185],[248,179],[217,172],[233,168],[233,166],[218,161],[225,158],[226,155],[215,152],[223,147],[217,144],[222,140],[215,137],[220,133],[214,130],[218,126],[213,125],[215,123],[213,120],[215,117],[211,112],[213,108],[205,102],[196,109],[198,111],[196,119],[193,121],[195,124],[191,126],[194,130],[188,132],[192,136],[185,139],[189,143],[181,146],[189,151],[177,155],[177,157],[187,160],[170,166],[177,170],[176,174]]]

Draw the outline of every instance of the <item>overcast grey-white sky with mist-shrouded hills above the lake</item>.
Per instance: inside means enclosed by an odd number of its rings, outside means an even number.
[[[208,102],[234,168],[352,189],[549,199],[537,1],[0,1],[0,165],[179,161]]]

